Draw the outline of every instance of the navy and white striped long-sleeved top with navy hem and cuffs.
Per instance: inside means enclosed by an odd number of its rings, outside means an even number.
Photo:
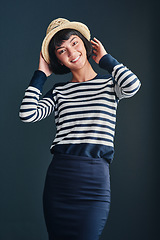
[[[52,153],[105,158],[108,162],[113,159],[117,104],[122,98],[132,97],[140,81],[110,54],[103,56],[99,65],[111,75],[56,84],[41,100],[46,76],[41,71],[34,73],[20,118],[36,122],[54,111],[57,132]]]

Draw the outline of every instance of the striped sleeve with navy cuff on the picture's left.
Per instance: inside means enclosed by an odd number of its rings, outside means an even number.
[[[40,100],[46,78],[43,72],[35,71],[20,107],[19,117],[23,122],[40,121],[53,111],[55,103],[51,90]]]

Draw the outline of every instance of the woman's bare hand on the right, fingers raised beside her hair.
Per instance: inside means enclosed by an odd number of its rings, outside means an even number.
[[[100,59],[107,54],[105,48],[103,47],[102,43],[96,39],[95,37],[93,38],[94,40],[91,40],[92,47],[93,47],[93,53],[94,55],[92,56],[93,60],[99,64]]]

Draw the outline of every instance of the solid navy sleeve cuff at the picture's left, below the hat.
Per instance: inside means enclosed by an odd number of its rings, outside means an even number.
[[[47,79],[46,74],[40,70],[37,70],[34,72],[29,86],[38,88],[40,90],[40,92],[42,92],[43,85],[44,85],[46,79]]]

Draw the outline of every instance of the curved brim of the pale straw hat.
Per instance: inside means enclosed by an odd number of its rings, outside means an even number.
[[[48,45],[52,39],[52,37],[59,32],[60,30],[63,29],[75,29],[77,31],[79,31],[88,41],[90,41],[90,31],[88,29],[88,27],[80,22],[68,22],[65,24],[60,25],[59,27],[54,28],[53,30],[51,30],[46,37],[44,38],[43,42],[42,42],[42,55],[43,58],[45,59],[45,61],[49,64],[50,63],[50,58],[49,58],[49,53],[48,53]]]

